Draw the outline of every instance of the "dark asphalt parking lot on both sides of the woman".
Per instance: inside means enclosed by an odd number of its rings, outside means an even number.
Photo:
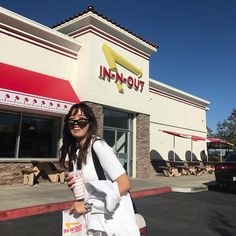
[[[163,193],[135,199],[148,236],[235,236],[236,195],[217,191]],[[61,212],[0,222],[1,235],[60,236]]]

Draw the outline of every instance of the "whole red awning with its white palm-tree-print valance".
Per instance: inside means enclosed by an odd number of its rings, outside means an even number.
[[[0,63],[0,104],[67,113],[78,102],[69,81]]]

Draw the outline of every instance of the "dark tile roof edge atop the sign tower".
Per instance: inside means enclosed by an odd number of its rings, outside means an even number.
[[[71,21],[71,20],[73,20],[73,19],[75,19],[75,18],[77,18],[77,17],[79,17],[79,16],[82,16],[82,15],[88,13],[88,12],[92,12],[92,13],[96,14],[97,16],[99,16],[99,17],[101,17],[101,18],[107,20],[108,22],[110,22],[110,23],[116,25],[117,27],[119,27],[119,28],[125,30],[125,31],[128,32],[129,34],[132,34],[132,35],[135,36],[136,38],[138,38],[138,39],[144,41],[145,43],[151,45],[152,47],[159,48],[159,45],[153,44],[153,43],[151,43],[151,42],[145,40],[144,38],[142,38],[142,37],[136,35],[135,33],[131,32],[131,31],[129,31],[128,29],[126,29],[125,27],[121,26],[120,24],[117,24],[116,22],[112,21],[112,20],[109,19],[108,17],[106,17],[106,16],[102,15],[101,13],[95,11],[94,8],[93,8],[93,6],[88,6],[87,10],[85,10],[85,11],[83,11],[83,12],[80,12],[80,13],[78,13],[78,14],[76,14],[76,15],[74,15],[74,16],[68,18],[68,19],[65,19],[64,21],[59,22],[59,23],[53,25],[51,28],[56,28],[57,26],[62,25],[62,24],[64,24],[64,23],[66,23],[66,22],[69,22],[69,21]]]

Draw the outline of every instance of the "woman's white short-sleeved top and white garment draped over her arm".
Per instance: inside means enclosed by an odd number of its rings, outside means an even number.
[[[96,140],[93,149],[101,163],[107,180],[99,180],[93,164],[91,141],[86,164],[82,164],[85,182],[85,202],[93,203],[86,214],[88,229],[104,231],[107,235],[138,236],[132,201],[128,193],[120,196],[116,180],[126,171],[113,149],[103,140]],[[108,207],[112,206],[112,207]],[[99,209],[99,213],[96,212]]]

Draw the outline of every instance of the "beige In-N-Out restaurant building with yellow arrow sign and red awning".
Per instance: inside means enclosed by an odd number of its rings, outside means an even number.
[[[65,114],[87,101],[131,177],[153,162],[201,159],[208,101],[149,77],[158,46],[92,7],[52,28],[0,8],[0,185],[32,161],[58,162]],[[142,29],[141,29],[142,30]]]

